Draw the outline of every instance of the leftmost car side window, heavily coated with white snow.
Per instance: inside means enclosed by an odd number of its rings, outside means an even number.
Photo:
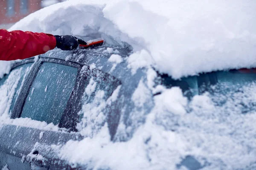
[[[32,64],[20,65],[0,79],[0,115],[12,111],[23,85],[24,77],[29,74]]]

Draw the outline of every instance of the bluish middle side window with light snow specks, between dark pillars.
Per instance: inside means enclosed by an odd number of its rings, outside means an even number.
[[[58,125],[75,86],[77,72],[77,68],[44,62],[20,116]]]

